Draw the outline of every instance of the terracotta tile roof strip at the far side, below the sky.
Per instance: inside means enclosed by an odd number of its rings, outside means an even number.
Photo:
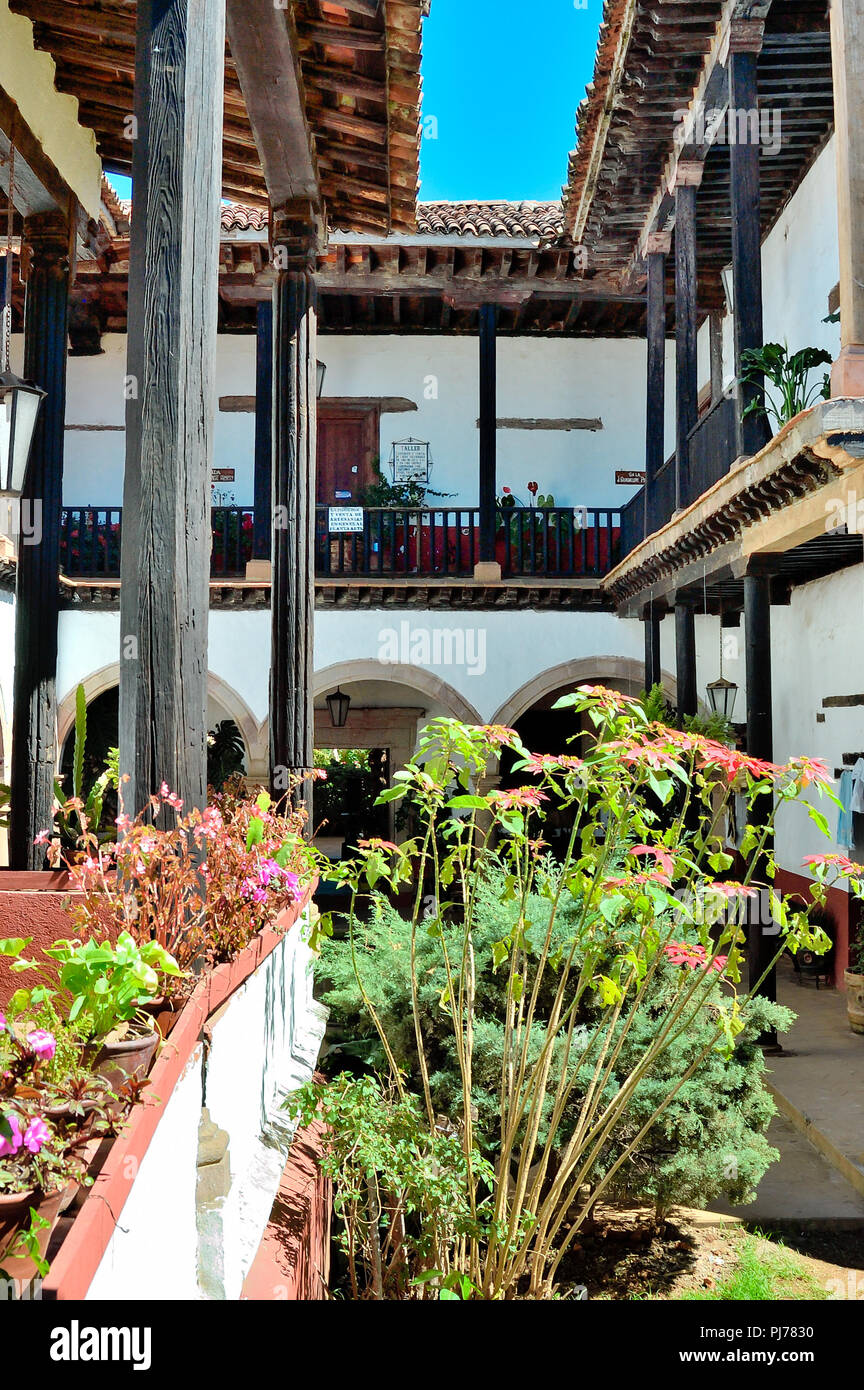
[[[263,231],[263,207],[231,203],[222,207],[222,231]],[[421,203],[417,208],[421,236],[536,236],[557,240],[563,232],[560,203]]]

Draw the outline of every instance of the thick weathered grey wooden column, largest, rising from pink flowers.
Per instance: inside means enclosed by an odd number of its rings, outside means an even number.
[[[139,0],[119,758],[126,810],[207,796],[225,0]]]

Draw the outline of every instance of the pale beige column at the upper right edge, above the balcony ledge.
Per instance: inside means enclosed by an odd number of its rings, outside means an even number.
[[[864,0],[831,0],[840,245],[840,356],[835,396],[864,396]]]

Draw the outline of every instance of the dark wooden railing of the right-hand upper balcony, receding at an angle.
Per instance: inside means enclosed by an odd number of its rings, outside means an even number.
[[[720,482],[738,456],[738,403],[722,396],[696,423],[688,435],[689,464],[681,480],[681,498],[675,499],[675,455],[657,470],[650,491],[647,517],[645,489],[621,509],[621,553],[629,555],[646,535],[653,535],[672,518],[679,507],[689,507]]]

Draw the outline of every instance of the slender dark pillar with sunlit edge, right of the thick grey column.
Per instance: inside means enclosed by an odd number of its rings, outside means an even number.
[[[290,268],[279,270],[274,289],[269,776],[278,798],[292,774],[311,769],[315,730],[315,286],[308,264],[285,260]]]

